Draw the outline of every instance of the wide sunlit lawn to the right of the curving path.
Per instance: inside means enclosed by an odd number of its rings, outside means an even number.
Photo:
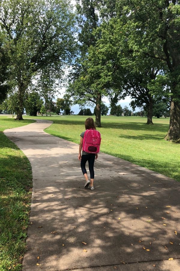
[[[37,117],[54,121],[46,132],[79,144],[87,116]],[[164,140],[169,118],[102,116],[101,151],[180,181],[180,144]]]

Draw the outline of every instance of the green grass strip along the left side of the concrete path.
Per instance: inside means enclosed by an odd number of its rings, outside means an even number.
[[[31,203],[29,160],[3,130],[32,123],[0,116],[0,270],[21,270]]]

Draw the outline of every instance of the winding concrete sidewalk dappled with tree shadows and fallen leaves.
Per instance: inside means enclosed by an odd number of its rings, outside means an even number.
[[[100,153],[85,189],[79,145],[45,133],[51,123],[4,131],[33,172],[23,270],[180,270],[179,182]]]

